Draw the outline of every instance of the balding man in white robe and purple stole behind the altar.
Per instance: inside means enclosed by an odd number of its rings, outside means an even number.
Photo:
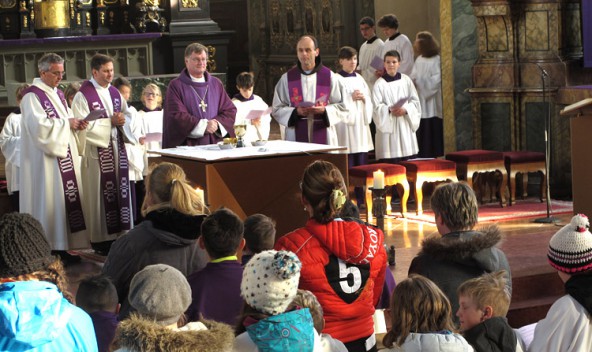
[[[297,65],[275,86],[272,115],[283,126],[285,140],[339,145],[335,125],[348,114],[340,81],[321,63],[313,36],[301,37],[296,51]]]

